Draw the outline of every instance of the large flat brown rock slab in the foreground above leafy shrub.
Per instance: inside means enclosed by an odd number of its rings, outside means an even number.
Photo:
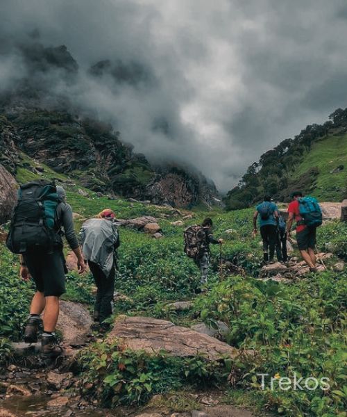
[[[117,339],[124,347],[131,350],[145,350],[153,354],[165,350],[170,356],[201,355],[211,361],[219,360],[223,356],[231,358],[238,356],[235,347],[211,336],[200,334],[187,327],[176,326],[167,320],[151,317],[118,316],[115,327],[106,341],[112,343]]]

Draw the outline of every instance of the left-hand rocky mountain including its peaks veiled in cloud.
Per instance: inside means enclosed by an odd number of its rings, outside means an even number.
[[[13,51],[23,74],[0,92],[0,163],[9,172],[15,174],[24,153],[100,193],[172,206],[219,204],[217,188],[194,167],[177,163],[175,156],[154,166],[135,154],[110,124],[76,104],[69,90],[76,88],[81,74],[65,45],[44,47],[34,37],[8,45],[0,54],[6,58]],[[145,68],[117,58],[92,65],[89,74],[92,79],[111,76],[115,85],[134,88],[155,82]]]

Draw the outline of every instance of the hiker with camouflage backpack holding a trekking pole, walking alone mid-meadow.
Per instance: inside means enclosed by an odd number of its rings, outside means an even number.
[[[223,239],[215,239],[212,234],[213,222],[205,218],[201,225],[196,224],[185,229],[185,253],[192,258],[200,268],[200,283],[204,286],[208,282],[208,265],[210,263],[210,243],[222,245]]]

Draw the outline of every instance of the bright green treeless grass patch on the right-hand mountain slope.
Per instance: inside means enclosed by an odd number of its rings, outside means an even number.
[[[344,170],[330,174],[339,165]],[[311,167],[318,167],[319,176],[312,195],[320,201],[341,201],[347,198],[347,135],[329,136],[314,143],[304,161],[298,165],[295,178],[301,176]]]

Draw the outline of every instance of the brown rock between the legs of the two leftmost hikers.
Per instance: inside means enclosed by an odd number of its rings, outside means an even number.
[[[60,301],[57,329],[62,332],[62,340],[65,345],[85,345],[91,325],[92,317],[83,304]]]

